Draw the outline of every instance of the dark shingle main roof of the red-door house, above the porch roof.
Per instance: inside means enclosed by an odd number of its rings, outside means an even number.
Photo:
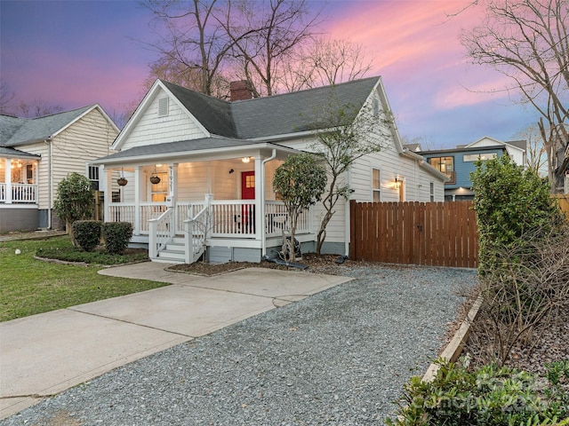
[[[162,81],[210,133],[226,138],[268,138],[314,130],[315,116],[332,102],[359,110],[379,77],[228,102]]]

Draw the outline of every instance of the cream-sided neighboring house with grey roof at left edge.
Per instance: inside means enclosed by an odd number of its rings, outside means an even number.
[[[0,115],[0,233],[58,227],[52,208],[60,181],[76,172],[97,185],[99,168],[88,162],[111,153],[118,131],[99,105],[39,118]]]

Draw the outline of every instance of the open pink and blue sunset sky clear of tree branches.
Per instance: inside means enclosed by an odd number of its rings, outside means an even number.
[[[490,136],[509,140],[536,120],[512,105],[507,80],[469,64],[461,28],[482,10],[467,1],[332,0],[323,24],[333,38],[362,43],[381,75],[402,136],[431,149]],[[140,97],[155,53],[149,12],[134,1],[0,2],[0,75],[20,101],[43,100],[71,109],[100,103],[109,114]]]

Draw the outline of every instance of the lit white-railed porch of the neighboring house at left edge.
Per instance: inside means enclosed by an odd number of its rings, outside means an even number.
[[[38,161],[0,157],[0,232],[36,229]]]

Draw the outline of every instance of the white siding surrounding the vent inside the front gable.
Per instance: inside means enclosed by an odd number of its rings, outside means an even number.
[[[206,134],[188,113],[171,98],[169,111],[165,116],[158,116],[159,99],[167,96],[160,90],[148,105],[148,109],[140,116],[136,126],[124,141],[121,150],[132,146],[145,146],[176,142],[179,140],[204,138]]]

